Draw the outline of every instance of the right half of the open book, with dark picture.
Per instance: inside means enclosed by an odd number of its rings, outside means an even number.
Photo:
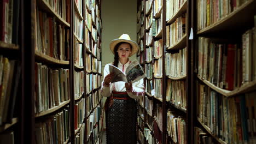
[[[135,59],[135,61],[133,61],[126,69],[125,71],[126,73],[126,78],[128,82],[136,82],[138,80],[143,79],[144,77],[146,77],[146,75],[144,74],[144,71],[141,68],[141,65],[139,65],[137,59]]]

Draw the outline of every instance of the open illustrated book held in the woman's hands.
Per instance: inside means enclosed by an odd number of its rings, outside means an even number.
[[[141,65],[139,65],[136,59],[130,63],[125,70],[125,73],[114,65],[109,64],[109,73],[114,73],[114,79],[111,81],[112,83],[118,81],[133,83],[146,77]]]

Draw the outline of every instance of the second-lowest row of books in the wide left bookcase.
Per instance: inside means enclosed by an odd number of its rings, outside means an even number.
[[[70,99],[69,69],[52,69],[35,63],[35,113],[43,112]]]

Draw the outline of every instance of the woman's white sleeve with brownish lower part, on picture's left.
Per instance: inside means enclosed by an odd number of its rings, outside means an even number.
[[[105,77],[109,74],[109,67],[108,67],[108,64],[105,65],[104,67],[104,79]],[[111,86],[111,83],[109,83],[109,86],[106,85],[104,83],[104,79],[103,81],[101,82],[101,95],[103,97],[109,97],[111,95],[111,92],[112,92],[112,86]]]

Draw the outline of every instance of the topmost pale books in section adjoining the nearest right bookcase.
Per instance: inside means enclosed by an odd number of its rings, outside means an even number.
[[[172,19],[172,17],[181,9],[182,5],[187,0],[167,0],[166,1],[166,21]]]

